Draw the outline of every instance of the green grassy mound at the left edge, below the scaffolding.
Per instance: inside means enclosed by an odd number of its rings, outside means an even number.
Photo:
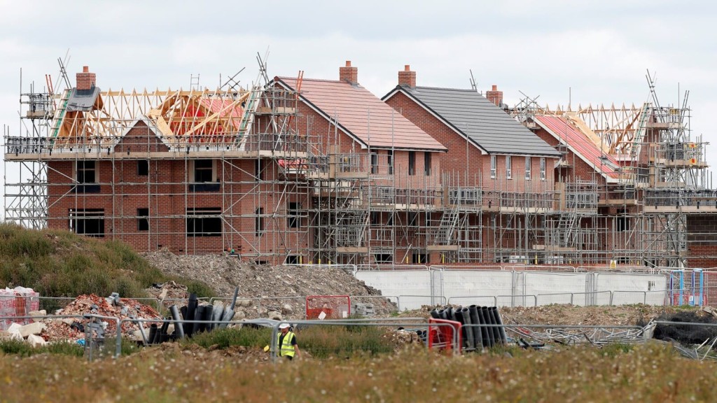
[[[0,287],[22,285],[44,297],[116,292],[145,298],[146,288],[168,280],[187,285],[190,293],[216,296],[206,283],[165,275],[123,242],[0,224]],[[62,306],[47,303],[48,311]]]

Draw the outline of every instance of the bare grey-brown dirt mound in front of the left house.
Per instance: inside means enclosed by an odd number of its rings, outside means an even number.
[[[254,265],[232,255],[174,255],[168,250],[145,253],[143,257],[162,272],[203,281],[223,298],[231,297],[234,288],[239,287],[237,311],[242,312],[240,316],[246,318],[266,318],[272,316],[270,312],[280,313],[282,318],[304,317],[303,298],[272,298],[381,295],[381,291],[337,267]],[[156,294],[161,292],[161,288],[154,288],[150,292]],[[263,299],[252,299],[259,297]],[[224,300],[225,304],[228,302]],[[394,305],[383,298],[361,302],[373,303],[376,313],[395,310]]]

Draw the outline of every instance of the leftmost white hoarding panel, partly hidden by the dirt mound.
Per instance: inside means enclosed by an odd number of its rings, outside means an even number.
[[[422,305],[435,305],[432,298],[431,272],[429,270],[356,270],[356,278],[397,303],[399,310],[419,309]]]

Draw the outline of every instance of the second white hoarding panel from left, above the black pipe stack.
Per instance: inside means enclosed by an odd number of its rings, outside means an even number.
[[[440,274],[442,295],[456,304],[493,305],[491,297],[513,293],[513,272],[459,269],[440,270]]]

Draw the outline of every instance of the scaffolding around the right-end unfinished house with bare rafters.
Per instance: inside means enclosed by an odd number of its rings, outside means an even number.
[[[688,218],[714,214],[709,207],[716,206],[705,161],[708,143],[690,136],[689,93],[678,105],[661,106],[649,72],[647,82],[650,99],[639,106],[551,110],[526,98],[513,110],[533,129],[533,115],[560,116],[619,163],[615,181],[595,173],[586,178],[569,169],[563,150],[556,179],[558,208],[546,228],[546,250],[559,251],[554,262],[688,265]]]

